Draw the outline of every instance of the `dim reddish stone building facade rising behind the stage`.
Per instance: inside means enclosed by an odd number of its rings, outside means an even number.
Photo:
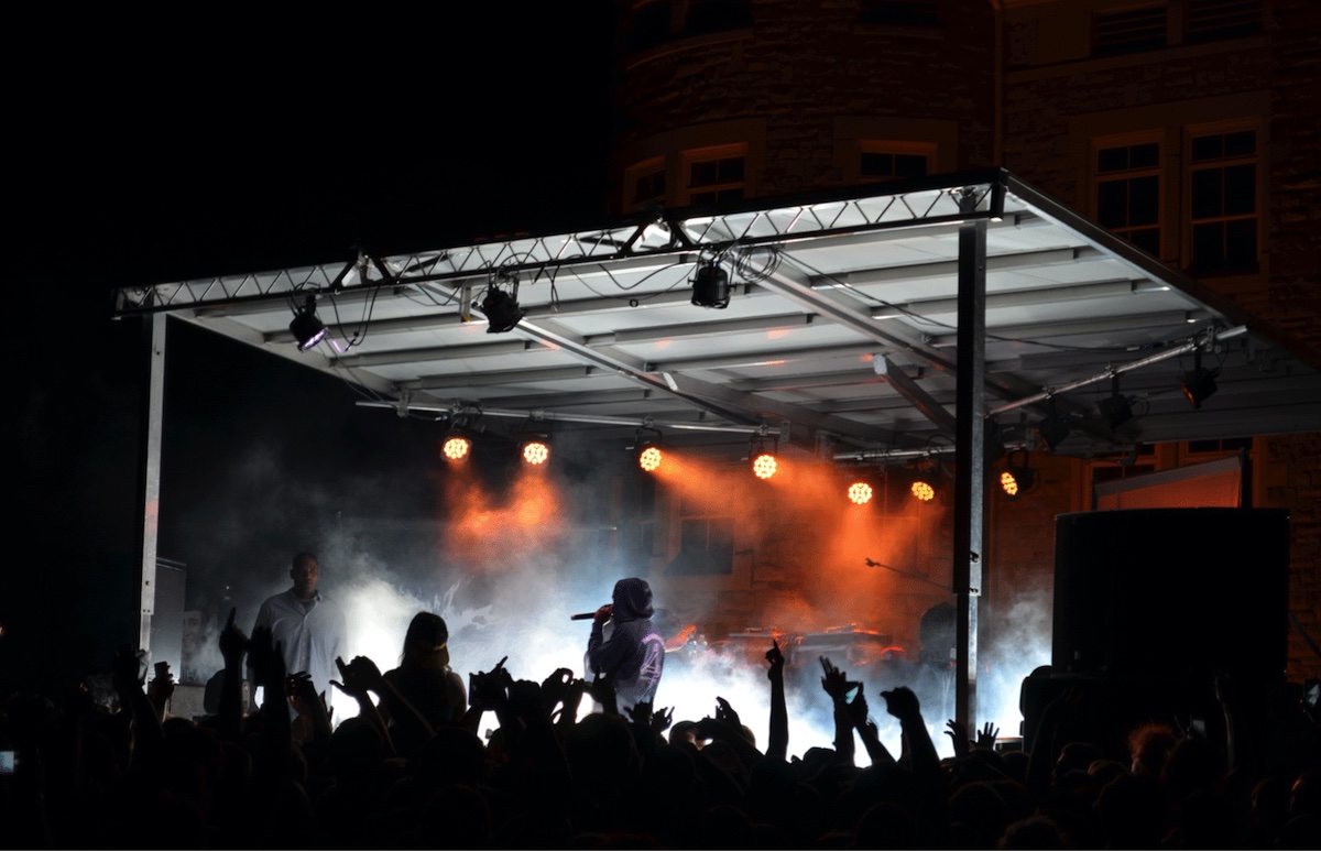
[[[1321,363],[1310,0],[618,0],[616,12],[614,213],[1003,165]],[[1316,433],[1238,435],[1037,459],[1032,500],[988,502],[985,628],[1049,588],[1054,518],[1095,507],[1094,485],[1240,455],[1240,503],[1291,514],[1287,675],[1321,675],[1306,638],[1321,638],[1318,451]],[[736,609],[752,583],[727,580]]]

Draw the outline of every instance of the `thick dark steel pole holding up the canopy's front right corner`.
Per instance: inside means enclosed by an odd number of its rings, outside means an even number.
[[[954,593],[955,720],[972,731],[978,714],[978,596],[985,485],[987,223],[959,227],[959,350],[955,388]]]

